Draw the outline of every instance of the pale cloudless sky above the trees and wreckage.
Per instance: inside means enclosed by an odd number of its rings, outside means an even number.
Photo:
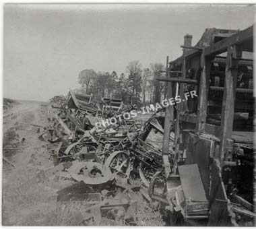
[[[126,73],[130,61],[166,63],[205,28],[243,30],[248,5],[5,4],[3,97],[40,100],[79,88],[83,69]]]

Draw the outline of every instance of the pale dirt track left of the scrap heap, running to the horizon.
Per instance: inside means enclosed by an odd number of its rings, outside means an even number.
[[[28,162],[31,150],[42,145],[37,139],[36,127],[30,125],[46,125],[47,108],[41,104],[22,101],[3,114],[3,155],[17,167],[24,166],[24,163]],[[23,138],[25,138],[24,142],[22,142]],[[5,150],[11,145],[19,150]],[[21,150],[22,154],[19,153]]]

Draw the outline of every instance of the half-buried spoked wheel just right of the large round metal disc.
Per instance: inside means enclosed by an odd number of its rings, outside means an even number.
[[[112,172],[116,172],[120,176],[128,178],[131,172],[129,154],[123,151],[113,152],[106,159],[105,166],[110,168]]]

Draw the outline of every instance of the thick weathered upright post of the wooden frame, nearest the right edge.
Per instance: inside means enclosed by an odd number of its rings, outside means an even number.
[[[234,102],[236,98],[236,81],[238,73],[238,59],[242,57],[242,49],[238,46],[228,46],[226,57],[226,73],[222,100],[222,119],[220,133],[220,162],[224,165],[224,157],[228,150],[228,142],[232,136],[234,121]]]

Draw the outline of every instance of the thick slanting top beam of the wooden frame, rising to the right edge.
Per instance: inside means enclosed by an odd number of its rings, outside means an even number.
[[[234,34],[228,38],[224,38],[211,46],[205,47],[205,56],[218,55],[227,51],[229,46],[238,45],[248,40],[253,40],[253,26]]]

